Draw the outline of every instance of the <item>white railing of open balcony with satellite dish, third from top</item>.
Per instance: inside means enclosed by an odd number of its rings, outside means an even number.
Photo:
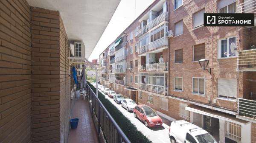
[[[161,62],[155,64],[144,64],[139,67],[140,72],[158,72],[158,71],[168,71],[168,62]]]

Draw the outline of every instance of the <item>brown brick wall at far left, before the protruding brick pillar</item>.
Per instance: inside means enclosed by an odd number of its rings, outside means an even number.
[[[30,8],[0,2],[0,142],[31,143]]]

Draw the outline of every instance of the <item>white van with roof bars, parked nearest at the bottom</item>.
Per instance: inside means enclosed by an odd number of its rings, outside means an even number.
[[[171,143],[218,143],[206,130],[184,120],[171,123],[169,137]]]

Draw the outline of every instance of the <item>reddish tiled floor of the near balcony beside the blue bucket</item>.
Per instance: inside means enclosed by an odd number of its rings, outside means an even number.
[[[88,101],[76,99],[72,113],[72,118],[79,118],[79,123],[76,129],[70,129],[68,143],[99,143]]]

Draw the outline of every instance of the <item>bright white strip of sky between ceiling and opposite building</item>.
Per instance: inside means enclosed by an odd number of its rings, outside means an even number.
[[[89,61],[98,59],[122,31],[124,31],[154,0],[121,0],[104,33],[96,44]]]

